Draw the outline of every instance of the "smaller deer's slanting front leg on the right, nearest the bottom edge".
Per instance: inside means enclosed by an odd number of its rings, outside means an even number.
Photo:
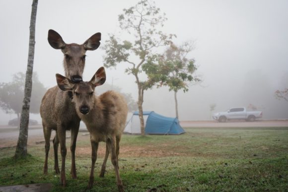
[[[124,192],[123,184],[120,178],[119,169],[118,169],[118,159],[116,155],[116,138],[108,139],[107,143],[109,145],[109,149],[111,151],[111,162],[115,169],[116,174],[116,181],[117,181],[117,187],[119,192]]]

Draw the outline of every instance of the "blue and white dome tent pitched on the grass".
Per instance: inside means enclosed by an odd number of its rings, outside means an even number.
[[[154,111],[144,111],[145,134],[179,135],[185,133],[177,118],[165,117]],[[128,121],[125,133],[141,134],[139,112],[135,111]]]

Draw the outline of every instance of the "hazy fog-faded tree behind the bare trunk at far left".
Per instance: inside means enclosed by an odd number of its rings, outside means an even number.
[[[12,82],[0,83],[0,108],[5,112],[21,113],[24,97],[25,74],[19,72],[13,75]],[[33,75],[33,87],[30,112],[39,113],[41,99],[46,88],[39,82],[36,73]]]

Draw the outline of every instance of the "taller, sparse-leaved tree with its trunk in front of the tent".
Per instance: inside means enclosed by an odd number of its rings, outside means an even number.
[[[153,82],[140,80],[142,66],[150,58],[157,57],[155,48],[169,45],[174,35],[166,35],[159,29],[167,20],[165,14],[155,6],[154,2],[141,0],[135,6],[123,9],[124,13],[118,16],[120,28],[127,31],[131,39],[119,40],[115,35],[110,35],[106,41],[104,50],[105,67],[116,67],[120,63],[128,65],[126,73],[133,75],[138,86],[138,109],[141,122],[141,134],[144,135],[143,101],[144,90],[150,89]]]

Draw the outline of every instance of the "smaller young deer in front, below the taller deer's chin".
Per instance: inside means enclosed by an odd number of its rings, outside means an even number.
[[[125,98],[114,91],[105,92],[100,96],[94,95],[95,87],[104,84],[106,80],[103,67],[98,69],[89,82],[75,84],[70,79],[59,74],[56,75],[56,79],[61,90],[72,90],[72,102],[75,103],[76,112],[90,132],[92,166],[88,188],[92,188],[93,185],[98,144],[100,141],[104,141],[106,142],[106,154],[100,177],[104,176],[106,161],[110,152],[111,162],[116,173],[118,190],[120,192],[124,191],[119,175],[118,156],[120,149],[119,142],[126,125],[128,113]]]

